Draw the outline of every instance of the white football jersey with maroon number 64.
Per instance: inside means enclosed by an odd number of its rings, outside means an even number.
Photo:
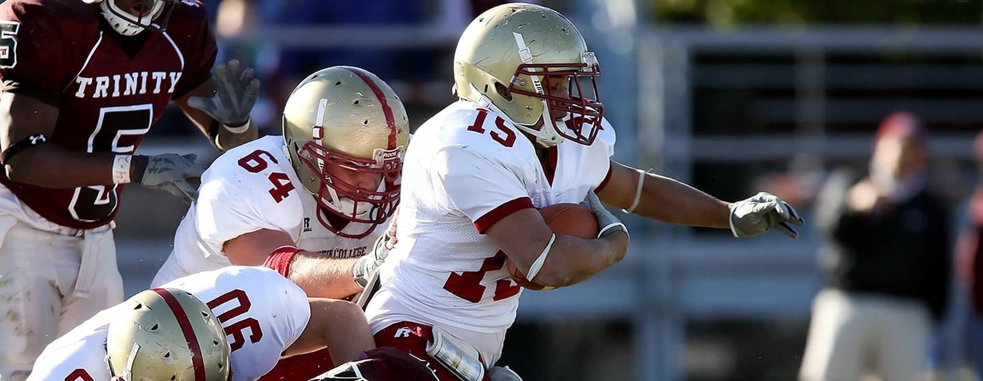
[[[290,165],[283,137],[265,136],[222,154],[204,172],[198,202],[178,225],[171,256],[152,285],[231,264],[222,252],[225,242],[260,229],[287,232],[298,248],[310,252],[357,258],[369,251],[386,225],[360,239],[325,228],[315,197]],[[342,231],[356,234],[366,228],[350,222]]]

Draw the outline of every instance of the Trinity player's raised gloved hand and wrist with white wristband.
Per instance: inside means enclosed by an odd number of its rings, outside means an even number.
[[[253,75],[252,68],[229,61],[175,103],[215,148],[225,151],[251,142],[259,136],[250,119],[260,94],[260,80]]]

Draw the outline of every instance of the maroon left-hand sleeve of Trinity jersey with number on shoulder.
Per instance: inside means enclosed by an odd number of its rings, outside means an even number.
[[[83,47],[97,37],[92,7],[58,0],[0,4],[0,90],[57,105],[86,59]]]

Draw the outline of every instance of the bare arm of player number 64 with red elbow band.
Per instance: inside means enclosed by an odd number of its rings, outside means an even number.
[[[299,250],[290,234],[260,229],[225,242],[223,252],[232,264],[262,265],[267,261],[309,297],[345,298],[362,291],[352,278],[357,259],[338,259]],[[277,258],[271,258],[275,256]]]

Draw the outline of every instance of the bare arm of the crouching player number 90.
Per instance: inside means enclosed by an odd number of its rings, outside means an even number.
[[[304,333],[284,357],[302,355],[327,347],[336,362],[346,362],[361,352],[376,348],[365,313],[351,302],[309,298],[311,319]]]

